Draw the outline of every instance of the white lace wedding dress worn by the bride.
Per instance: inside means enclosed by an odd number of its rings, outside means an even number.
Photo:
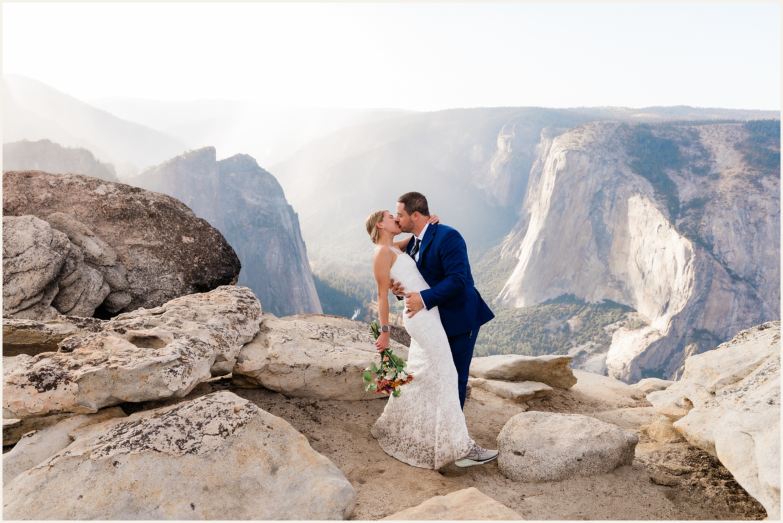
[[[391,277],[406,292],[429,288],[408,254],[397,256]],[[399,398],[388,399],[371,432],[389,456],[413,467],[438,469],[466,456],[474,442],[460,409],[456,367],[438,308],[403,318],[410,334],[406,370],[413,381],[402,385]]]

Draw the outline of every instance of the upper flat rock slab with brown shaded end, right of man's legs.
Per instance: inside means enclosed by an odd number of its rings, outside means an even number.
[[[550,387],[571,388],[576,377],[568,363],[572,356],[522,356],[516,354],[485,356],[471,362],[471,376],[485,380],[539,381]]]

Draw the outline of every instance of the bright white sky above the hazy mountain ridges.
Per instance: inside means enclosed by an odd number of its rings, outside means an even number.
[[[80,99],[779,110],[778,3],[3,3],[2,68]]]

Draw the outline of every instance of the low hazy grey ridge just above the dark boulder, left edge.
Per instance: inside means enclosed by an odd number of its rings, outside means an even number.
[[[106,182],[119,182],[114,165],[96,159],[81,147],[63,147],[51,140],[4,143],[2,166],[8,171],[46,171],[65,174],[75,172]]]

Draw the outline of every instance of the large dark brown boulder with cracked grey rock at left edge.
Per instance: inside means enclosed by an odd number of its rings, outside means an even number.
[[[3,172],[3,313],[113,316],[236,283],[240,261],[182,202],[121,183]]]

